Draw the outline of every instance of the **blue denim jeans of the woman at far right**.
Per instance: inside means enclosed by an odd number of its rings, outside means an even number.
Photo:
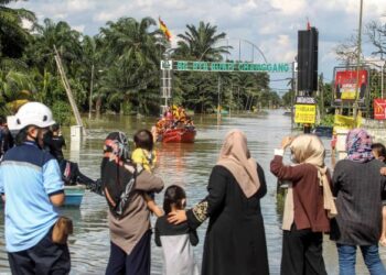
[[[336,244],[339,254],[339,274],[354,275],[356,261],[356,246]],[[386,275],[385,267],[379,258],[378,245],[362,245],[363,260],[371,275]]]

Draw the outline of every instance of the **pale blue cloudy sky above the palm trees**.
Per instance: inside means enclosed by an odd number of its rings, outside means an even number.
[[[40,22],[45,18],[66,21],[72,28],[88,35],[98,33],[107,21],[121,16],[140,20],[161,19],[172,33],[172,45],[186,24],[200,21],[217,25],[232,45],[229,59],[262,63],[259,48],[269,63],[291,63],[297,55],[298,30],[305,30],[307,21],[319,30],[319,73],[331,81],[333,67],[339,65],[334,47],[357,32],[361,0],[29,0],[11,7],[35,12]],[[371,20],[386,23],[386,0],[364,0],[363,24]],[[365,56],[371,43],[363,36]],[[240,42],[242,41],[242,42]],[[240,51],[239,51],[240,45]],[[285,79],[291,74],[271,74],[271,79]],[[286,81],[271,81],[280,94]]]

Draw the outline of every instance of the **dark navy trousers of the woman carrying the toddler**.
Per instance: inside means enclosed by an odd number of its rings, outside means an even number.
[[[111,242],[106,275],[150,275],[150,239],[148,230],[129,255]]]

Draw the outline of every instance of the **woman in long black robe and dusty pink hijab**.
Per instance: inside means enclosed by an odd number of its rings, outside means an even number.
[[[269,274],[260,198],[267,193],[262,168],[249,156],[247,139],[230,131],[212,169],[208,195],[189,211],[173,212],[169,221],[187,219],[196,229],[207,218],[202,275]]]

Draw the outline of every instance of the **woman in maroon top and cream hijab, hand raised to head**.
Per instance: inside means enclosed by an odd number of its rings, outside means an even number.
[[[293,165],[282,163],[288,146]],[[270,170],[280,183],[290,183],[282,221],[282,275],[326,274],[323,232],[330,231],[328,216],[336,215],[336,209],[324,155],[324,146],[317,135],[301,134],[285,138],[270,163]]]

